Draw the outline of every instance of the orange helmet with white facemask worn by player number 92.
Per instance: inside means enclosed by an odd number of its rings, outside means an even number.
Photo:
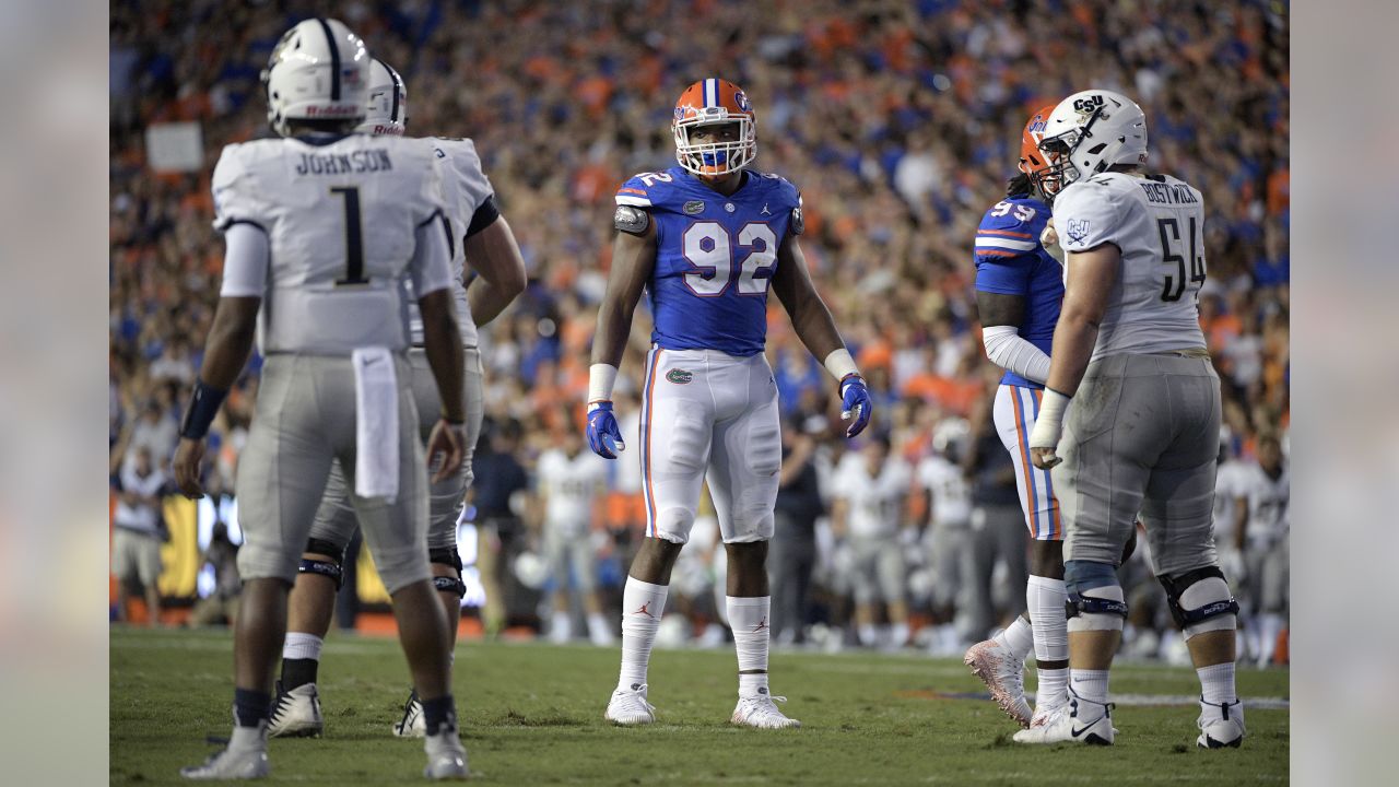
[[[739,139],[704,144],[690,141],[690,130],[695,126],[719,123],[737,123]],[[726,80],[700,80],[687,87],[676,101],[676,119],[670,129],[676,134],[676,160],[695,175],[729,175],[753,164],[758,155],[753,104],[743,88]]]

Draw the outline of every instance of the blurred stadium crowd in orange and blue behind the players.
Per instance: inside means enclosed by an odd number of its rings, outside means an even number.
[[[954,653],[1023,609],[1013,588],[1024,585],[1024,524],[1009,458],[989,424],[1000,371],[981,350],[971,251],[982,213],[1014,174],[1025,118],[1073,91],[1093,85],[1135,97],[1150,123],[1150,167],[1205,193],[1209,281],[1200,315],[1224,381],[1221,457],[1254,462],[1269,434],[1286,451],[1286,3],[323,6],[193,0],[111,8],[108,443],[123,504],[139,503],[122,478],[143,447],[157,468],[168,464],[200,365],[222,262],[210,228],[210,172],[225,143],[269,133],[259,70],[280,31],[318,13],[343,18],[404,74],[410,134],[476,140],[529,266],[527,291],[481,335],[487,429],[469,513],[483,525],[488,627],[558,625],[539,590],[561,577],[536,557],[547,517],[536,504],[544,485],[534,469],[544,451],[582,430],[613,192],[634,172],[674,164],[674,99],[705,76],[746,88],[758,118],[757,168],[803,189],[807,262],[879,406],[873,437],[838,438],[834,385],[772,301],[768,356],[790,450],[771,560],[783,611],[779,641],[891,644],[911,625],[922,627],[921,644]],[[148,167],[145,129],[165,122],[200,125],[197,172]],[[649,337],[644,314],[637,323],[617,405],[631,415],[632,434]],[[211,434],[211,490],[234,493],[257,368],[255,358]],[[970,485],[965,521],[930,524],[935,515],[963,520],[929,506],[925,489],[937,475],[930,458]],[[904,473],[901,494],[874,515],[841,497],[841,473],[859,462]],[[589,578],[607,620],[617,618],[644,528],[634,465],[628,454],[602,466],[603,489],[582,529],[596,546]],[[1221,496],[1221,506],[1233,497]],[[832,508],[844,508],[844,527],[830,525]],[[1233,518],[1221,515],[1230,520],[1219,525],[1224,546],[1233,543]],[[893,557],[869,563],[869,581],[859,578],[865,562],[849,553],[860,528],[895,545]],[[723,605],[713,602],[722,560],[711,559],[713,538],[706,545],[702,531],[677,569],[684,601],[673,609],[688,619],[667,626],[672,641],[723,640]],[[1126,570],[1143,588],[1146,612],[1133,623],[1151,644],[1139,647],[1153,655],[1150,632],[1170,629],[1170,619],[1164,605],[1151,612],[1146,601],[1154,584],[1140,559]]]

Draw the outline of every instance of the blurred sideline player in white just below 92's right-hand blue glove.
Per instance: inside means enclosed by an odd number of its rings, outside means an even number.
[[[916,531],[904,515],[912,472],[888,448],[888,437],[876,434],[860,451],[841,458],[831,478],[831,532],[848,550],[860,644],[900,648],[908,644],[904,549]],[[876,604],[888,613],[883,637],[874,627]]]

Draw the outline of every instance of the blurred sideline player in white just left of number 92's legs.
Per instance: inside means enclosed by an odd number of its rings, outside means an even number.
[[[588,616],[588,639],[610,646],[613,633],[597,598],[597,546],[590,527],[607,490],[607,464],[586,448],[582,434],[568,430],[534,466],[541,546],[554,595],[548,636],[555,643],[572,637],[569,602],[576,598]]]

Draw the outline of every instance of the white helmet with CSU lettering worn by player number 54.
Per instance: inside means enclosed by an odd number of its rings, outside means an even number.
[[[1049,161],[1045,179],[1053,196],[1114,164],[1144,164],[1146,113],[1121,92],[1076,92],[1049,113],[1039,150]]]

